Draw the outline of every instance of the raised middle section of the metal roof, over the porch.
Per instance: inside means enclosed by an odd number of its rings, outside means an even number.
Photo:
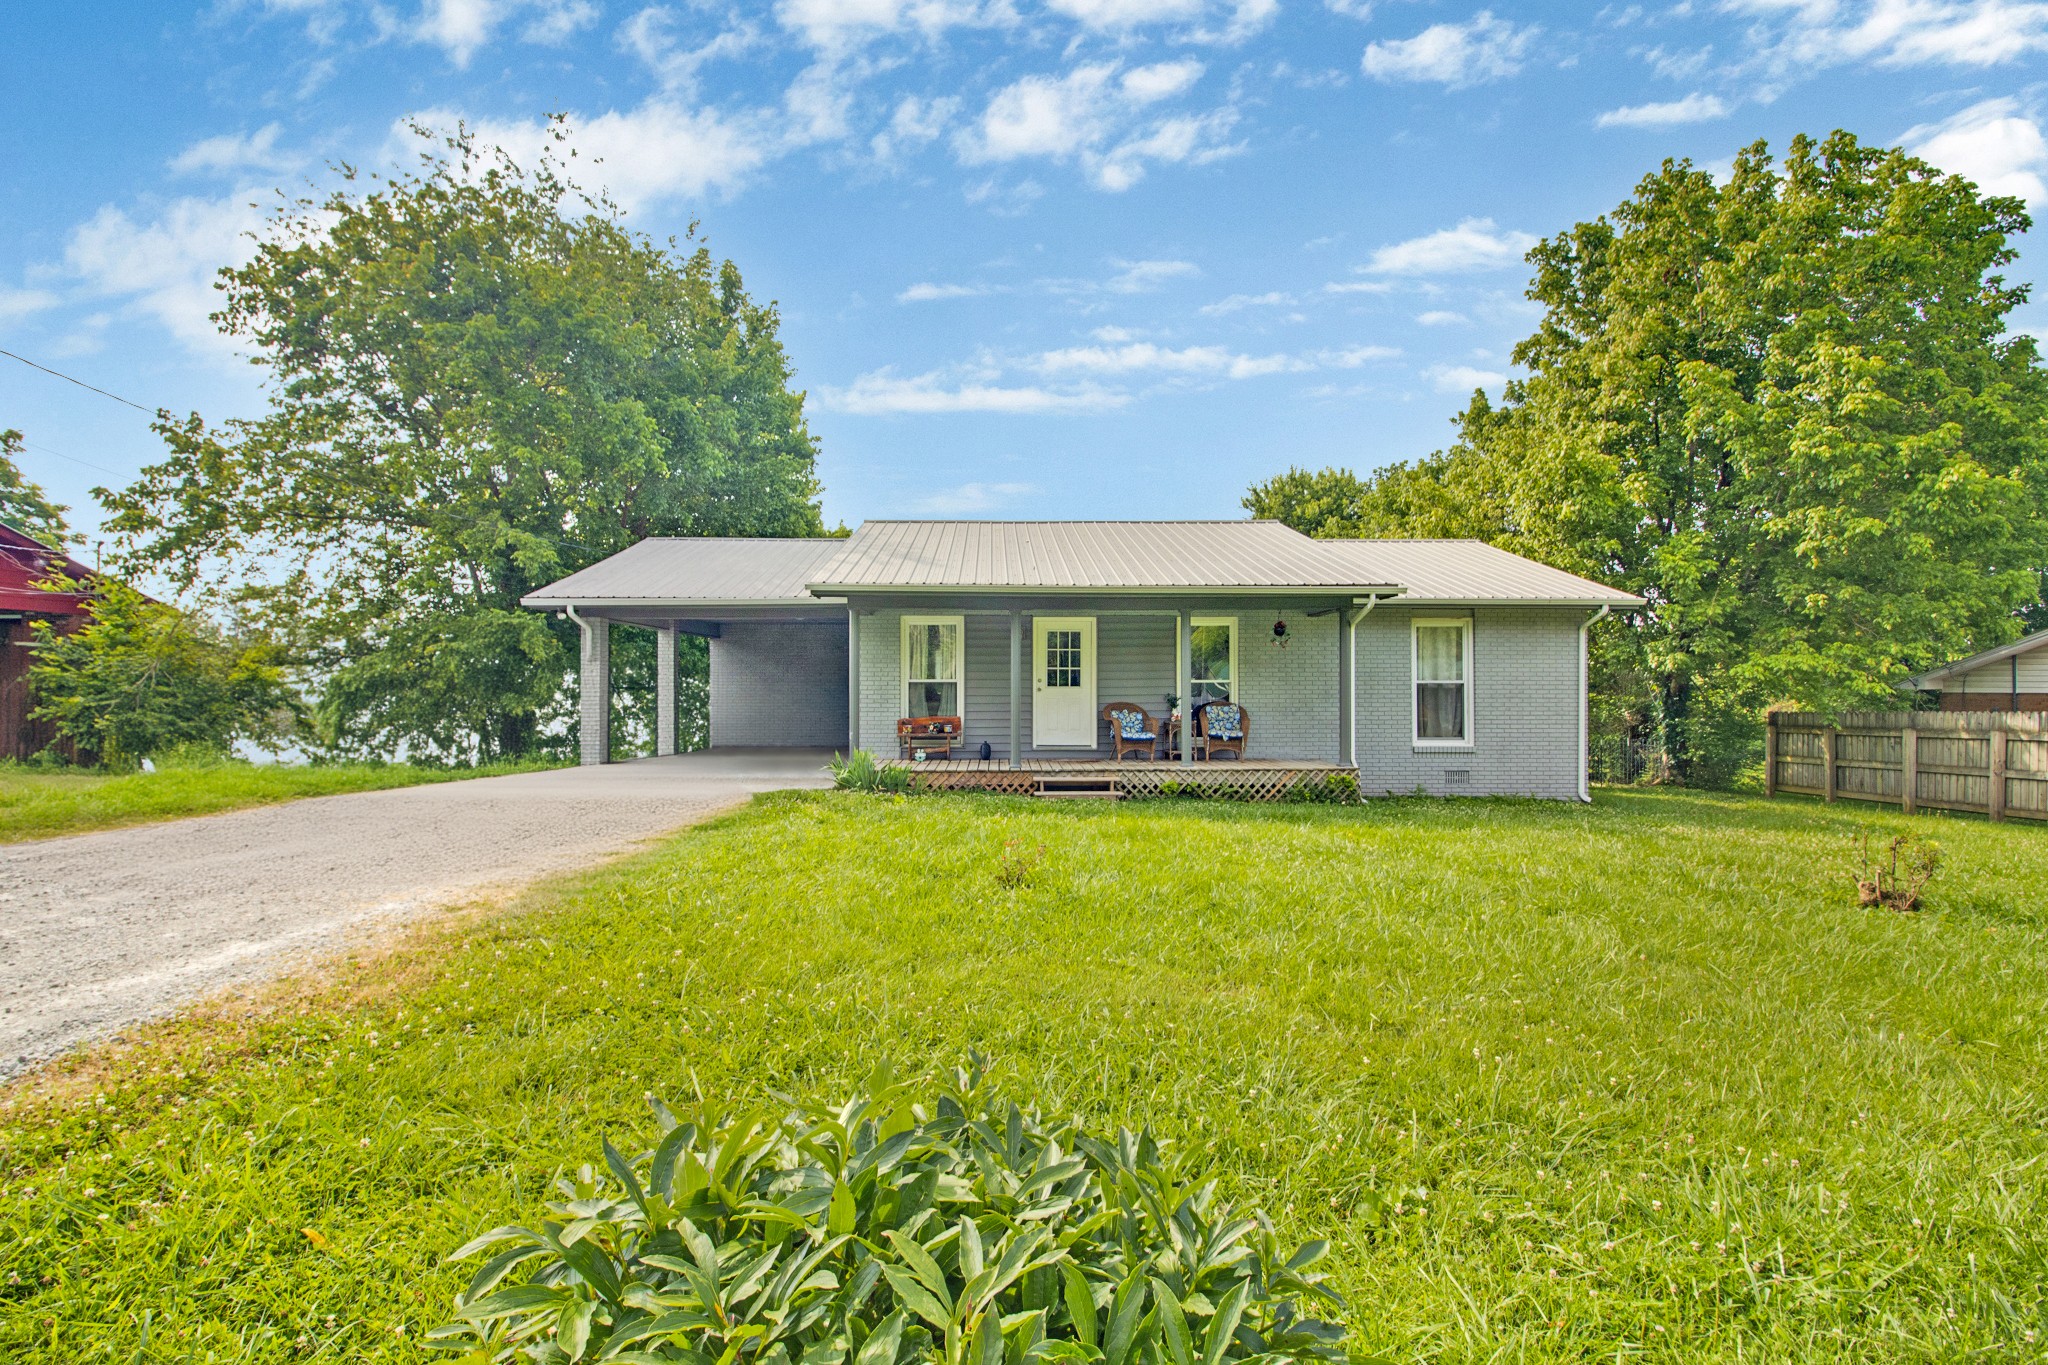
[[[1380,589],[1280,522],[862,522],[813,591]]]

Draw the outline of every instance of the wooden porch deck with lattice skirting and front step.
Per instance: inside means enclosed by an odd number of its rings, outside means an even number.
[[[1163,796],[1194,788],[1231,800],[1280,800],[1303,780],[1352,772],[1343,763],[1309,759],[889,759],[907,767],[928,792],[1008,792],[1012,796]]]

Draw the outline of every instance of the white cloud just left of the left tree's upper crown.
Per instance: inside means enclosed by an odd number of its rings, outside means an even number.
[[[178,199],[154,221],[135,221],[104,205],[72,229],[63,266],[84,287],[106,299],[125,299],[156,317],[186,346],[223,352],[229,342],[207,317],[219,307],[213,276],[246,262],[254,248],[248,233],[262,225],[250,196]]]

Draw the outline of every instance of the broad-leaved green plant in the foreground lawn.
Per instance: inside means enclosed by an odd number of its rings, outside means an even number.
[[[432,1342],[471,1361],[1237,1365],[1341,1359],[1311,1242],[1190,1183],[1149,1134],[1100,1138],[887,1070],[844,1105],[672,1115],[604,1144],[489,1252]],[[526,1277],[506,1283],[514,1271]]]

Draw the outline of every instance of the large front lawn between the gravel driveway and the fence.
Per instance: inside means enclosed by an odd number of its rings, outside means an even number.
[[[1866,829],[1942,837],[1927,913],[1853,905]],[[2048,829],[1739,796],[768,796],[18,1089],[0,1355],[422,1359],[645,1093],[979,1048],[1331,1238],[1393,1359],[2040,1359],[2044,884]]]

